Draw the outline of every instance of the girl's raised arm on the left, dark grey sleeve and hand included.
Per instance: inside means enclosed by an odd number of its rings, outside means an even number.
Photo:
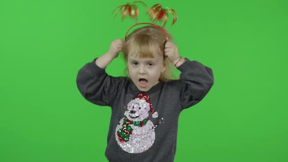
[[[82,96],[92,103],[110,106],[117,90],[123,86],[124,77],[112,77],[106,74],[105,67],[118,56],[123,41],[112,41],[109,51],[101,57],[86,63],[77,74],[77,87]]]

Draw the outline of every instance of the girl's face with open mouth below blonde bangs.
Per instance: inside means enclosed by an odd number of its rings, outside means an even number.
[[[146,92],[159,82],[161,71],[165,70],[164,55],[153,50],[154,58],[140,58],[139,55],[128,54],[127,67],[131,80],[137,88]]]

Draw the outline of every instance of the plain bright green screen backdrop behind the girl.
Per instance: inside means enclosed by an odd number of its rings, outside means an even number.
[[[0,2],[1,162],[106,162],[110,108],[86,101],[76,76],[134,24],[111,15],[126,2]],[[144,2],[176,10],[166,27],[180,55],[214,73],[206,98],[180,115],[175,162],[287,162],[288,2]],[[119,57],[106,72],[123,69]]]

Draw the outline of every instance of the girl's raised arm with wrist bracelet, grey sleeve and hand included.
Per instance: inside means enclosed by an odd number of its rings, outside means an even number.
[[[206,96],[214,83],[212,69],[198,61],[180,57],[177,46],[170,41],[165,43],[164,52],[169,61],[182,72],[179,81],[182,108],[195,105]]]

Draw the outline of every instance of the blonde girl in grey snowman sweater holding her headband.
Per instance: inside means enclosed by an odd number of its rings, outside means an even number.
[[[120,51],[128,77],[109,76],[105,67]],[[171,80],[169,62],[181,71],[179,80]],[[125,41],[112,41],[107,53],[77,75],[87,101],[111,107],[105,151],[109,162],[173,162],[178,117],[201,101],[213,82],[211,68],[180,57],[176,45],[152,25],[134,30]]]

